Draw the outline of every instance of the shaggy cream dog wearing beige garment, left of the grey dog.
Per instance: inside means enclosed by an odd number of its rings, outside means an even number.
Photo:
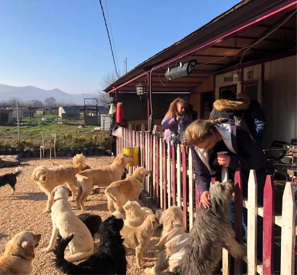
[[[159,275],[164,270],[173,271],[178,265],[185,254],[185,246],[189,237],[183,220],[183,211],[178,206],[170,206],[162,213],[159,224],[163,225],[163,231],[157,244],[160,252],[154,267],[145,269],[147,275]]]

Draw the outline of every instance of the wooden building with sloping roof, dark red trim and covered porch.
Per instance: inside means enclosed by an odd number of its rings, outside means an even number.
[[[177,96],[189,99],[199,117],[207,119],[221,90],[247,91],[267,116],[264,146],[273,140],[290,142],[297,136],[296,7],[296,1],[288,0],[241,1],[105,91],[116,99],[120,95],[128,123],[145,125],[151,114],[160,124]],[[165,78],[168,68],[190,60],[197,63],[189,76]],[[146,92],[142,98],[135,90],[140,82]]]

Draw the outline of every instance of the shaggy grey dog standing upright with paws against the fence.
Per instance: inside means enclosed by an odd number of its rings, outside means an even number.
[[[233,183],[216,182],[210,187],[211,207],[200,208],[190,231],[186,252],[173,272],[179,275],[212,275],[226,248],[234,258],[241,258],[243,247],[235,240],[229,220],[229,202]]]

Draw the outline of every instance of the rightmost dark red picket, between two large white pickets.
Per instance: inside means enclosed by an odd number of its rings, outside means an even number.
[[[274,267],[274,182],[268,175],[263,201],[263,275],[273,275]]]

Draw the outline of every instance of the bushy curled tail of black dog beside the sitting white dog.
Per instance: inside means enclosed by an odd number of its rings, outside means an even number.
[[[73,234],[71,234],[66,239],[59,239],[57,240],[56,247],[54,249],[55,259],[54,263],[56,268],[63,271],[65,274],[77,274],[78,271],[77,265],[73,264],[72,262],[68,262],[64,258],[64,251],[68,243],[73,239]]]

